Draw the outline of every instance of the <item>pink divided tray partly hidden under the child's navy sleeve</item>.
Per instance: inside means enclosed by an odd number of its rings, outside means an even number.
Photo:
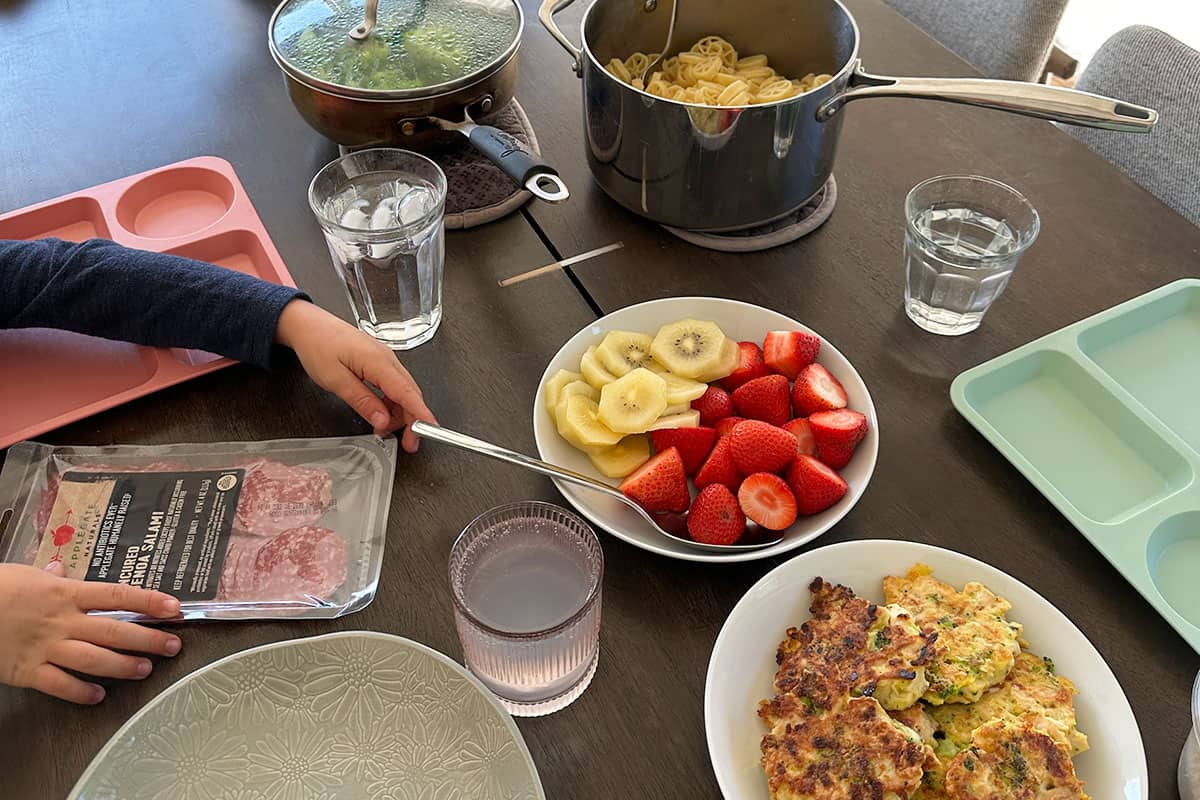
[[[112,239],[295,285],[223,158],[190,158],[0,215],[0,239],[49,236]],[[230,363],[66,331],[0,331],[0,449]]]

